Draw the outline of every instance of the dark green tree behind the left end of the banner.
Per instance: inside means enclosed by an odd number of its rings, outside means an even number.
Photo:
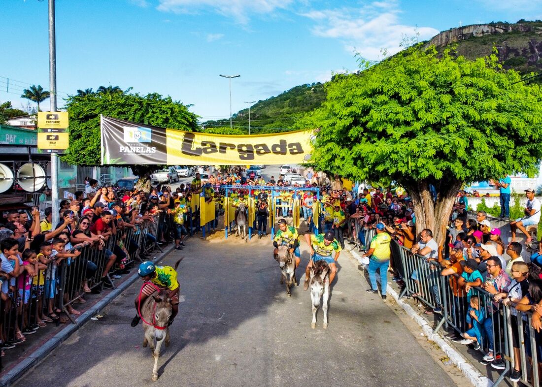
[[[190,105],[157,93],[143,96],[130,93],[129,90],[81,93],[84,95],[77,94],[67,98],[70,145],[67,153],[62,156],[63,161],[75,165],[100,165],[100,114],[188,132],[197,128],[198,116],[188,110]],[[140,178],[145,178],[159,167],[133,166],[132,170]],[[140,180],[144,183],[144,179]]]

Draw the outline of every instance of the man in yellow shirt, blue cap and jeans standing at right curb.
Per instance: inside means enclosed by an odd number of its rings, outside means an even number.
[[[369,261],[369,279],[371,288],[368,293],[378,294],[376,284],[376,271],[380,270],[380,285],[382,286],[382,299],[386,299],[386,287],[388,287],[388,267],[390,266],[390,234],[386,232],[386,226],[380,222],[376,225],[376,235],[371,240],[369,251],[363,256],[371,257]]]

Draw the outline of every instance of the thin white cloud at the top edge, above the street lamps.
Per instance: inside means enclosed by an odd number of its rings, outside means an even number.
[[[247,24],[249,14],[269,14],[285,9],[293,0],[159,0],[158,10],[188,14],[198,10],[213,9],[218,14],[233,17],[238,23]]]

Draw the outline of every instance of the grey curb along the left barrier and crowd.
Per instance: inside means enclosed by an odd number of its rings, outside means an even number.
[[[167,254],[173,250],[173,244],[170,247],[166,247],[162,253],[156,256],[154,262],[158,262],[164,259]],[[25,372],[33,368],[35,365],[40,363],[49,353],[64,342],[68,337],[77,331],[81,326],[83,326],[92,316],[104,309],[111,301],[117,298],[122,292],[124,292],[129,286],[131,286],[138,279],[138,275],[134,272],[131,277],[128,277],[119,287],[112,290],[107,296],[102,298],[98,303],[91,306],[89,310],[85,313],[82,313],[81,316],[75,319],[76,324],[70,324],[66,326],[63,330],[56,333],[47,343],[43,344],[40,349],[31,353],[27,358],[22,360],[21,363],[17,364],[14,368],[5,373],[2,378],[0,378],[0,387],[9,387],[11,384],[15,383],[18,378],[23,376]]]

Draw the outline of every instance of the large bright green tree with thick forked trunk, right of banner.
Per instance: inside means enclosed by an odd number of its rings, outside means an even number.
[[[311,162],[354,180],[388,176],[408,189],[418,231],[442,243],[463,183],[538,172],[542,93],[518,81],[495,55],[469,61],[420,45],[335,76],[304,124],[320,129]]]

